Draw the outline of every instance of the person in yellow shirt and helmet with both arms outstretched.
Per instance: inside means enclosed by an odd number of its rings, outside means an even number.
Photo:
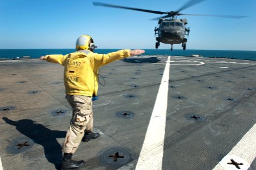
[[[94,53],[96,46],[89,35],[78,37],[76,51],[62,56],[53,54],[41,56],[41,60],[60,63],[64,69],[64,85],[66,99],[73,109],[72,118],[62,146],[64,156],[61,163],[62,169],[78,169],[85,164],[83,160],[74,161],[72,155],[77,150],[81,141],[99,137],[93,133],[93,99],[97,97],[99,68],[110,62],[137,56],[144,50],[119,50],[108,54]]]

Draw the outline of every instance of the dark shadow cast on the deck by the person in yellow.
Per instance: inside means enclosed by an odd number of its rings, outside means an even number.
[[[51,130],[28,119],[19,121],[12,121],[7,117],[2,119],[7,124],[16,126],[20,133],[32,139],[33,142],[43,146],[45,158],[47,158],[48,162],[54,164],[56,169],[60,169],[62,150],[56,138],[65,138],[66,131]]]

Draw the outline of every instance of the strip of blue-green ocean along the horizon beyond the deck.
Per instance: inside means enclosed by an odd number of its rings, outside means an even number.
[[[95,49],[95,53],[107,54],[119,49]],[[74,49],[0,49],[0,59],[15,59],[17,57],[30,56],[30,58],[39,58],[47,54],[68,54],[74,52]],[[199,54],[203,57],[234,58],[256,60],[256,51],[241,50],[179,50],[174,49],[145,49],[145,55],[166,55],[166,56],[191,56]]]

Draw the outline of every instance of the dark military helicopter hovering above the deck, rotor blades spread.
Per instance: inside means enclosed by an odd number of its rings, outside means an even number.
[[[125,7],[111,5],[107,3],[93,2],[95,6],[105,6],[105,7],[114,7],[114,8],[124,8],[127,10],[136,10],[142,12],[150,12],[154,14],[167,14],[153,20],[158,20],[158,25],[154,29],[154,34],[156,36],[156,49],[160,46],[160,42],[163,44],[170,44],[171,50],[173,50],[173,44],[182,44],[183,50],[186,50],[187,46],[187,37],[190,33],[190,28],[186,27],[187,19],[177,19],[179,15],[194,15],[194,16],[216,16],[222,18],[245,18],[246,16],[234,16],[234,15],[202,15],[202,14],[181,14],[180,12],[188,7],[195,5],[196,3],[202,2],[205,0],[190,0],[185,3],[177,11],[170,12],[161,12],[161,11],[152,11],[144,10],[141,8]],[[169,18],[169,19],[165,19]]]

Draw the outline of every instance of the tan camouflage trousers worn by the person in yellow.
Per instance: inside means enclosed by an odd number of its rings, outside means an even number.
[[[93,102],[89,96],[66,95],[66,99],[73,113],[62,150],[64,153],[74,154],[85,131],[93,130]]]

